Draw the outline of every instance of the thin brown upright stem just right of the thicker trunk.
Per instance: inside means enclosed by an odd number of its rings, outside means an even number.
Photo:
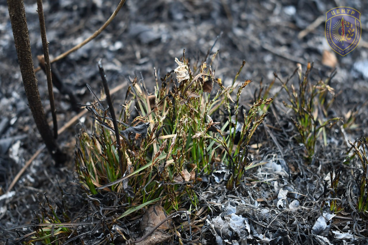
[[[37,0],[37,12],[38,12],[38,18],[40,21],[43,56],[45,57],[45,72],[46,72],[46,78],[47,78],[47,90],[49,91],[52,122],[54,125],[54,128],[53,128],[54,138],[56,139],[57,138],[56,107],[55,107],[54,92],[52,90],[52,74],[51,74],[51,64],[50,64],[50,57],[49,57],[49,43],[47,42],[47,38],[46,38],[45,15],[43,14],[42,0]]]

